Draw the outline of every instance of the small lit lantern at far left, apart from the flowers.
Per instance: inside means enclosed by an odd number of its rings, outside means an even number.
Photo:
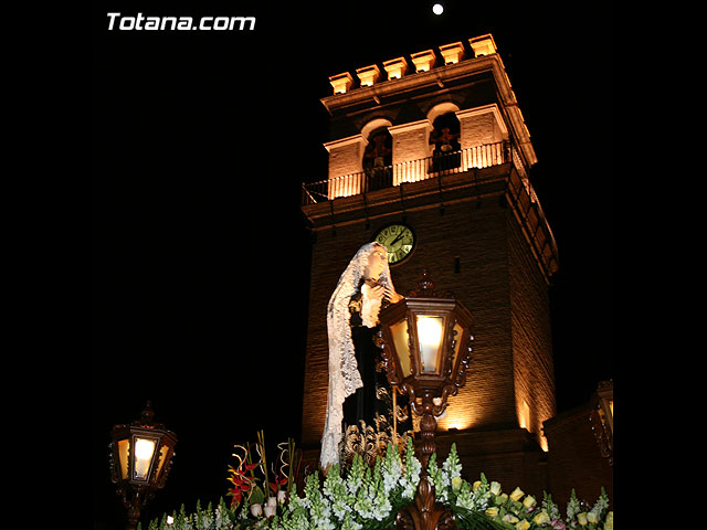
[[[115,425],[109,444],[110,480],[128,510],[127,530],[137,528],[140,511],[165,487],[175,456],[177,436],[165,425],[152,422],[148,401],[140,420],[129,425]]]

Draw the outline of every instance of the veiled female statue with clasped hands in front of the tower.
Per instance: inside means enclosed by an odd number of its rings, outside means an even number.
[[[347,402],[348,415],[370,422],[376,414],[379,350],[373,344],[373,332],[379,325],[383,300],[394,304],[401,298],[390,278],[386,247],[373,242],[359,248],[341,274],[327,306],[329,388],[319,457],[321,469],[328,470],[339,462],[347,398],[355,396]]]

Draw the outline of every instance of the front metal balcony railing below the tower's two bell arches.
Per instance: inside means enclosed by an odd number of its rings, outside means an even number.
[[[510,144],[498,141],[392,166],[376,166],[357,173],[303,183],[302,203],[303,205],[315,204],[339,197],[358,195],[404,182],[418,182],[444,174],[461,173],[473,168],[499,166],[509,161],[511,161]]]

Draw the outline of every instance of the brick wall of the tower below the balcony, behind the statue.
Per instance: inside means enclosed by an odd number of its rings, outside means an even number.
[[[553,406],[548,391],[551,375],[537,367],[551,367],[549,350],[549,316],[545,284],[530,257],[524,257],[525,242],[514,231],[515,219],[498,198],[485,199],[481,208],[476,201],[408,212],[407,222],[415,231],[418,244],[412,257],[392,268],[397,289],[407,294],[416,287],[423,268],[429,268],[437,290],[453,292],[475,318],[474,351],[467,383],[460,390],[443,417],[441,430],[456,427],[517,426],[518,384],[531,398],[529,404],[534,425],[548,417]],[[305,368],[302,443],[319,443],[324,428],[328,346],[326,306],[339,275],[356,251],[372,241],[384,224],[400,221],[391,215],[371,222],[366,230],[361,223],[325,229],[317,232],[313,245],[312,290]],[[529,252],[529,251],[527,251]],[[455,261],[458,258],[458,272]],[[534,268],[535,267],[535,268]],[[525,282],[530,282],[524,287]],[[525,299],[525,297],[530,298]],[[545,315],[542,315],[545,312]],[[537,348],[528,344],[536,341]],[[516,352],[514,352],[516,347]],[[526,370],[515,363],[530,362]],[[544,389],[544,390],[542,390]],[[541,406],[540,406],[541,404]],[[539,428],[536,428],[539,432]]]

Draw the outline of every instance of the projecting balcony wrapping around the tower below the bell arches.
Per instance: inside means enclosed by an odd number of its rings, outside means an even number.
[[[558,269],[555,236],[507,140],[302,184],[302,211],[315,232],[429,208],[443,213],[460,202],[479,208],[489,199],[509,208],[549,283]]]

